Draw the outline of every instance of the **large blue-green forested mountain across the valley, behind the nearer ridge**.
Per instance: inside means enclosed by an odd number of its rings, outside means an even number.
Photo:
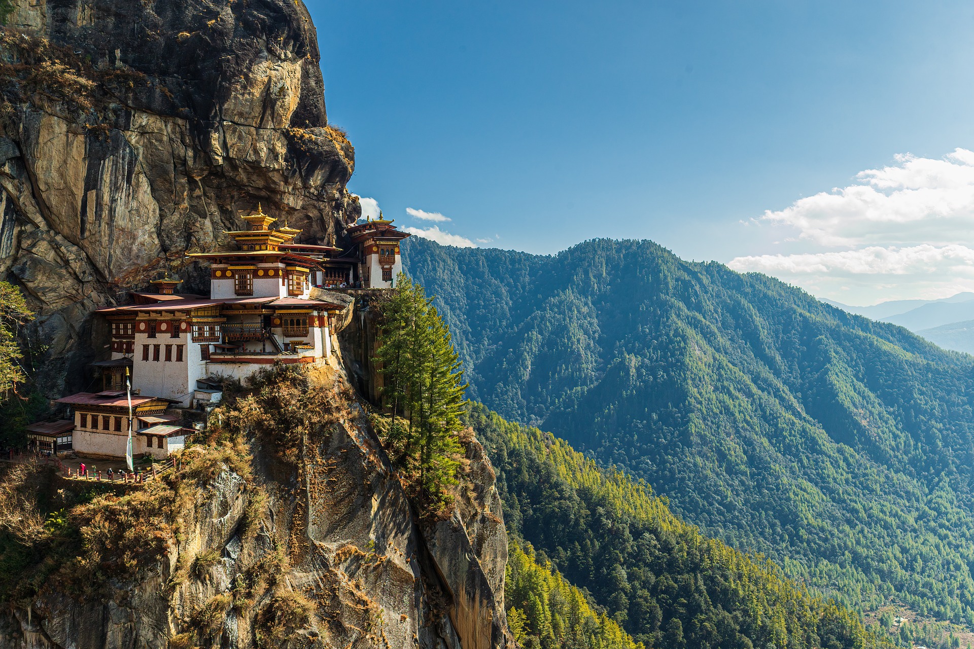
[[[649,241],[403,249],[472,398],[820,593],[974,624],[974,358]]]

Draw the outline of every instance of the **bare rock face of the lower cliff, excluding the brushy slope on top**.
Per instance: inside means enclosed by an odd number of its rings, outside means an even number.
[[[336,384],[341,400],[347,383]],[[421,523],[361,408],[338,406],[294,465],[259,441],[252,479],[219,463],[166,555],[112,580],[109,595],[46,587],[7,602],[0,649],[515,649],[483,449],[465,440],[453,517]]]

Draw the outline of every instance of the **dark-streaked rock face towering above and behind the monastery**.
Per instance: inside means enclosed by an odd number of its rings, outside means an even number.
[[[49,346],[42,387],[83,387],[90,313],[243,227],[258,202],[341,240],[355,151],[327,123],[300,0],[13,0],[0,28],[0,278]]]

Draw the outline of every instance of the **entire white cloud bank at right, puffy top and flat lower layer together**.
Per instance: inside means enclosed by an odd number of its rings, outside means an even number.
[[[851,304],[938,298],[974,286],[974,152],[900,155],[857,182],[768,210],[752,224],[794,254],[736,257],[756,270]]]

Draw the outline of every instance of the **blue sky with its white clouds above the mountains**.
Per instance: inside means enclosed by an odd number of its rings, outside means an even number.
[[[308,6],[351,189],[403,227],[651,238],[848,304],[974,289],[974,4]]]

